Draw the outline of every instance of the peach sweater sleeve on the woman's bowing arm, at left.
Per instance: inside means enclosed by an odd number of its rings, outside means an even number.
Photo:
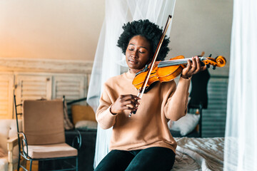
[[[115,124],[116,115],[111,114],[111,91],[106,84],[104,84],[104,91],[100,98],[99,108],[96,110],[96,120],[100,127],[109,129]]]

